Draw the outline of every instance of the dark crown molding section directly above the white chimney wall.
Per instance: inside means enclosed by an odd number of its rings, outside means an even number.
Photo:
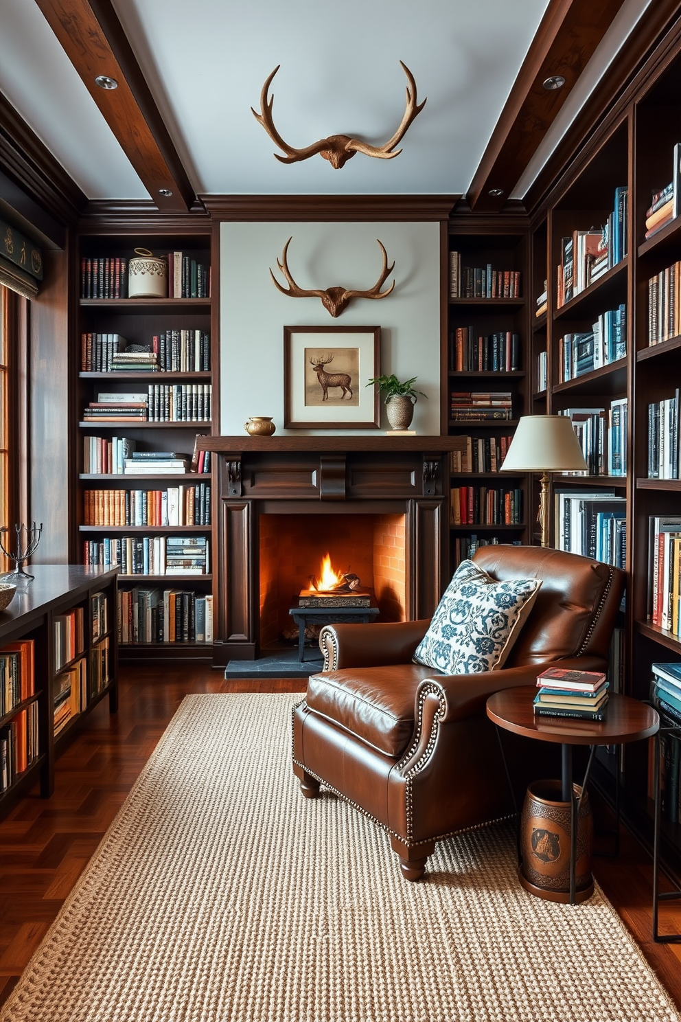
[[[199,195],[217,221],[446,221],[458,195]]]

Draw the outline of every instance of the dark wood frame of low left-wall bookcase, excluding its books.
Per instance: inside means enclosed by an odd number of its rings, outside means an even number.
[[[10,786],[0,793],[0,817],[4,817],[17,798],[40,780],[44,797],[54,787],[56,755],[68,744],[83,722],[104,697],[114,712],[118,700],[117,679],[117,629],[115,607],[117,573],[115,569],[84,567],[72,564],[36,564],[29,570],[33,582],[20,583],[17,592],[0,615],[0,652],[8,645],[21,640],[34,643],[34,693],[23,702],[0,717],[0,729],[9,725],[31,703],[37,703],[38,742],[37,758],[27,770],[17,774]],[[96,594],[100,597],[97,599]],[[106,625],[103,616],[95,626],[95,606],[106,601]],[[55,650],[55,618],[80,608],[82,611],[82,643],[76,655],[58,664]],[[97,664],[102,663],[102,650],[106,648],[105,673],[97,685]],[[54,734],[54,700],[59,687],[59,677],[69,667],[82,663],[85,692],[82,708],[69,714],[58,734]]]

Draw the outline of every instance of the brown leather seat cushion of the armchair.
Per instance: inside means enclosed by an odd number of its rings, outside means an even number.
[[[417,663],[311,675],[307,706],[363,742],[397,758],[414,734],[417,689],[432,668]]]

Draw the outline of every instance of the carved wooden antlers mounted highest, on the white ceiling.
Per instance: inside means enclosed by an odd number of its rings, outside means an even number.
[[[352,156],[354,156],[355,152],[363,152],[364,155],[376,156],[378,159],[392,159],[393,156],[398,156],[402,151],[401,149],[395,149],[395,146],[401,142],[406,129],[409,127],[414,119],[421,113],[426,105],[425,99],[423,103],[419,103],[417,105],[417,83],[414,80],[414,75],[405,63],[402,63],[401,60],[399,62],[402,65],[402,69],[406,75],[406,81],[408,82],[406,87],[406,108],[399,128],[392,138],[388,139],[385,145],[368,145],[367,142],[360,142],[356,138],[349,138],[347,135],[330,135],[328,138],[321,138],[319,142],[314,142],[312,145],[308,145],[304,149],[294,149],[293,146],[284,141],[275,128],[272,120],[272,104],[275,101],[274,95],[267,99],[267,89],[270,88],[273,78],[281,67],[281,64],[277,64],[272,75],[262,86],[262,91],[260,92],[261,112],[256,113],[252,106],[251,112],[255,120],[262,125],[273,142],[275,142],[280,149],[283,149],[286,153],[285,156],[280,156],[278,152],[275,153],[277,159],[281,160],[282,164],[297,164],[301,159],[309,159],[310,156],[314,156],[318,152],[321,156],[324,156],[325,159],[328,159],[331,166],[336,170],[340,170],[340,168],[346,164],[348,159],[351,159]]]

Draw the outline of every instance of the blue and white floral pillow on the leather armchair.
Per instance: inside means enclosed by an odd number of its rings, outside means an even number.
[[[445,675],[502,666],[541,587],[538,578],[497,582],[467,560],[456,568],[414,660]]]

